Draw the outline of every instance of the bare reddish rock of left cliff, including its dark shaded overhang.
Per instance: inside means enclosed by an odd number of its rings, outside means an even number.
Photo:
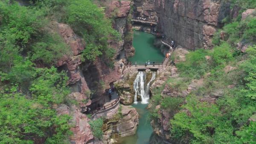
[[[93,138],[88,124],[89,119],[82,112],[85,112],[87,106],[91,104],[90,90],[99,89],[98,95],[102,95],[102,93],[105,93],[104,86],[109,86],[109,83],[119,79],[119,65],[116,64],[111,69],[100,58],[97,58],[94,62],[82,62],[80,53],[86,47],[84,41],[67,24],[53,22],[52,25],[55,26],[73,52],[72,55],[64,55],[63,58],[58,60],[56,66],[60,70],[67,71],[69,76],[68,85],[72,91],[69,97],[79,104],[78,106],[71,104],[69,107],[61,105],[57,109],[58,114],[69,114],[73,117],[70,122],[74,124],[74,127],[71,128],[73,136],[70,140],[72,143],[100,144],[102,142],[96,142]],[[98,82],[98,85],[94,85],[96,82]],[[100,82],[104,83],[103,86],[99,84]]]

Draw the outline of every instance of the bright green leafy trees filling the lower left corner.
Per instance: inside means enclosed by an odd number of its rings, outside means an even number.
[[[49,143],[65,142],[70,134],[70,117],[57,116],[52,105],[63,102],[69,93],[67,77],[53,67],[31,71],[29,98],[17,91],[15,84],[0,93],[0,141],[33,143],[33,138],[45,137]],[[6,80],[6,76],[3,75],[3,80]]]

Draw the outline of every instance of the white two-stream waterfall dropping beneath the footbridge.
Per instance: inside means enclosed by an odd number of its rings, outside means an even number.
[[[146,74],[143,71],[138,72],[134,80],[134,91],[135,91],[134,103],[135,104],[137,104],[137,95],[140,95],[142,104],[148,103],[150,83],[154,81],[155,78],[156,78],[156,72],[152,72],[152,78],[148,82],[145,89]]]

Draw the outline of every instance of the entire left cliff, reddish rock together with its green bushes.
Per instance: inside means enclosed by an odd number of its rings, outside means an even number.
[[[0,2],[1,143],[101,144],[103,122],[82,112],[119,78],[123,33],[89,0],[20,5]]]

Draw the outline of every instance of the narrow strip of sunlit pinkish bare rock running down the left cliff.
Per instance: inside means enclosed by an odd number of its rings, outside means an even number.
[[[78,106],[71,104],[69,107],[65,104],[61,104],[56,108],[58,115],[68,114],[72,117],[70,124],[73,135],[70,137],[70,141],[73,144],[100,144],[94,140],[89,119],[84,115],[83,111],[87,109],[87,106],[91,104],[91,100],[87,94],[88,88],[87,82],[81,72],[81,51],[85,48],[85,43],[80,39],[70,28],[70,26],[63,23],[53,22],[53,25],[58,30],[59,34],[64,38],[66,43],[70,46],[73,54],[64,55],[61,60],[58,60],[56,66],[60,70],[66,70],[69,76],[68,84],[71,87],[72,93],[69,95],[70,99],[76,100]],[[86,100],[86,102],[83,102]]]

